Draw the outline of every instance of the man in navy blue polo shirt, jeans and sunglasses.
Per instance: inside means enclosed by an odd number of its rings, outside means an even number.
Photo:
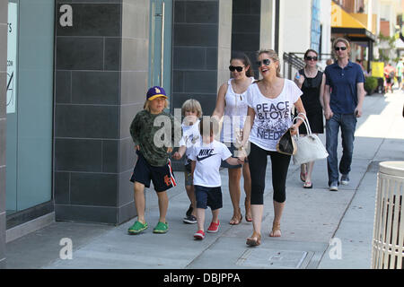
[[[329,190],[338,191],[338,132],[341,128],[342,158],[339,162],[340,183],[349,183],[356,118],[362,116],[364,103],[364,72],[360,65],[349,60],[347,39],[338,38],[333,44],[337,61],[325,69],[324,116],[326,117],[326,148],[329,152],[327,168]]]

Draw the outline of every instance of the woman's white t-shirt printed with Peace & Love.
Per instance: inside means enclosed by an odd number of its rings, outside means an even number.
[[[247,90],[247,104],[255,111],[250,142],[267,151],[277,151],[281,135],[292,126],[291,112],[294,103],[303,92],[297,85],[285,79],[284,88],[276,99],[265,97],[257,83]]]

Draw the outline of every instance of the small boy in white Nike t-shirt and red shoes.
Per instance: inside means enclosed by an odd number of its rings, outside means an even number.
[[[224,145],[215,141],[214,122],[204,117],[199,122],[199,131],[202,142],[194,145],[189,154],[191,172],[194,178],[195,196],[197,197],[198,231],[195,239],[205,238],[205,210],[209,206],[212,210],[212,222],[207,232],[215,233],[219,230],[219,209],[222,208],[222,179],[220,178],[220,165],[222,160],[231,165],[241,164],[240,159],[232,158],[232,153]]]

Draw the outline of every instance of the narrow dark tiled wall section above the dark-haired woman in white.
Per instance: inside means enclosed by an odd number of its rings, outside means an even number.
[[[233,0],[232,50],[246,53],[259,78],[256,52],[259,50],[261,0]],[[269,37],[269,34],[268,34]]]

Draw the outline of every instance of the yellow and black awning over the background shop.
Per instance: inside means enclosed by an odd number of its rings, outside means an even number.
[[[344,34],[355,41],[376,40],[376,36],[367,30],[363,23],[356,20],[334,2],[331,2],[331,33]]]

